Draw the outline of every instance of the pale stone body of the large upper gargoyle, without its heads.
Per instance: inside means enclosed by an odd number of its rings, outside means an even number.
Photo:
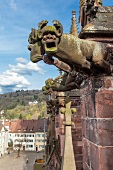
[[[45,41],[45,46],[47,42]],[[77,68],[90,70],[92,63],[96,66],[108,69],[106,63],[107,50],[105,44],[82,40],[71,34],[63,34],[60,43],[57,45],[57,51],[51,52],[49,48],[45,48],[48,55],[53,55],[61,61]],[[52,54],[51,54],[52,53]]]

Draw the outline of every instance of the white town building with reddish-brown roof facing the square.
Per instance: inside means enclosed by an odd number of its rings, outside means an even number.
[[[13,149],[40,151],[45,147],[46,119],[12,120],[9,127],[9,140],[13,141]]]

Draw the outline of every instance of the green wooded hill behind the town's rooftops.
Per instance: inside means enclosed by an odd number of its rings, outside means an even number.
[[[46,100],[48,97],[41,90],[0,94],[0,111],[4,110],[7,119],[37,119],[46,116]]]

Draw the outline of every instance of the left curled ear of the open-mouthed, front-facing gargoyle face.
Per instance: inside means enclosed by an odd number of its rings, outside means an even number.
[[[42,38],[42,29],[47,25],[48,21],[47,20],[42,20],[41,22],[38,23],[38,38]]]

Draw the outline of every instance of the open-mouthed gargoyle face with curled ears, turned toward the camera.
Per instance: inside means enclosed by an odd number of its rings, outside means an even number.
[[[57,52],[63,27],[57,20],[53,21],[53,26],[47,26],[47,23],[47,21],[42,21],[38,24],[38,39],[41,39],[45,53],[51,55]]]

